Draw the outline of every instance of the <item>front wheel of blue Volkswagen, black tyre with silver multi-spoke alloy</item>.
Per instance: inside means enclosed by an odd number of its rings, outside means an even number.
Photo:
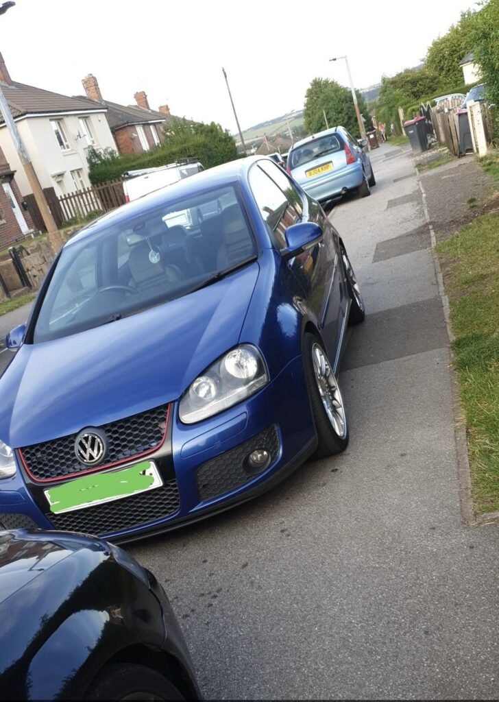
[[[348,446],[345,403],[324,346],[311,333],[304,338],[303,366],[319,439],[315,457],[333,456]]]

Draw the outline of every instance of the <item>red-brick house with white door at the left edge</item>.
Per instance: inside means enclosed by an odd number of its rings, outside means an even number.
[[[15,181],[15,171],[1,149],[0,183],[0,249],[5,249],[32,232],[34,227]]]

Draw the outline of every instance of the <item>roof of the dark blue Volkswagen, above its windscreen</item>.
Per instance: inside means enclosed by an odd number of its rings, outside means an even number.
[[[261,161],[262,159],[267,158],[268,157],[265,156],[248,156],[242,159],[236,159],[235,161],[229,161],[227,164],[207,168],[206,171],[201,171],[201,173],[194,173],[193,176],[183,178],[182,180],[179,180],[178,183],[167,185],[160,190],[154,190],[154,192],[144,195],[143,197],[133,200],[132,202],[128,202],[127,204],[108,212],[104,216],[98,218],[98,220],[94,220],[89,225],[84,227],[84,229],[75,234],[72,239],[69,239],[64,248],[69,248],[69,246],[72,246],[76,242],[93,236],[93,234],[96,234],[102,227],[107,227],[107,225],[110,224],[126,222],[141,212],[154,210],[154,208],[160,206],[165,201],[175,201],[176,199],[186,197],[189,194],[203,192],[210,185],[213,188],[224,187],[225,185],[234,183],[237,180],[244,180],[249,168],[251,168],[256,161]],[[272,163],[274,163],[273,160]]]

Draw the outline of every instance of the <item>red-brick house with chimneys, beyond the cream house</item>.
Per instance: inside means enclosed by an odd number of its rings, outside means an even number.
[[[91,73],[81,83],[89,101],[105,106],[109,128],[120,154],[142,154],[161,144],[164,127],[173,119],[168,105],[162,105],[158,111],[151,110],[144,91],[135,93],[136,106],[118,105],[102,98],[98,81]]]

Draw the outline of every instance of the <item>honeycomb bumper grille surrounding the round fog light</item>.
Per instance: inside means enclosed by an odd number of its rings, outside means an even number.
[[[260,471],[248,471],[245,466],[245,458],[248,453],[255,449],[265,449],[270,453],[270,463]],[[197,489],[201,500],[208,500],[225,492],[229,492],[251,478],[263,472],[277,458],[279,453],[279,437],[274,426],[269,427],[261,434],[248,439],[244,444],[236,446],[235,449],[221,453],[220,456],[212,458],[200,465],[197,470]]]

